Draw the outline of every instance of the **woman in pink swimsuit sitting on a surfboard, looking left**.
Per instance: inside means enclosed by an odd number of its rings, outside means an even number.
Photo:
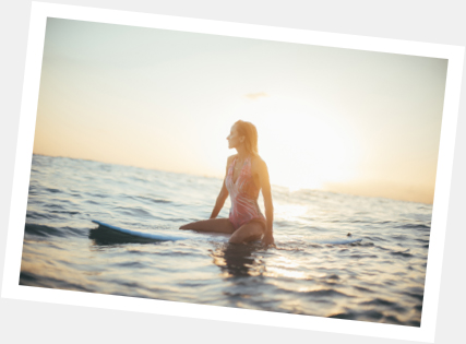
[[[180,229],[231,234],[229,242],[241,244],[260,239],[265,245],[274,244],[272,230],[274,207],[267,165],[258,154],[258,131],[242,120],[237,121],[227,137],[228,147],[237,154],[228,157],[226,176],[210,220],[193,222]],[[265,217],[258,205],[262,189]],[[229,218],[216,218],[225,200],[230,194]]]

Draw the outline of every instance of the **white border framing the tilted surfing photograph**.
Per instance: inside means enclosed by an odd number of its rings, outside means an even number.
[[[441,141],[420,328],[19,285],[45,28],[48,17],[447,59]],[[465,48],[459,46],[33,2],[1,297],[433,343],[464,50]]]

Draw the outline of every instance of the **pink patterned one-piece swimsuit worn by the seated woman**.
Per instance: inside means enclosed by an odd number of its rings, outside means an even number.
[[[252,221],[261,222],[265,229],[265,217],[262,215],[258,204],[259,189],[256,188],[251,174],[251,157],[248,157],[244,161],[241,171],[238,175],[237,180],[234,182],[234,168],[236,161],[237,158],[235,158],[232,164],[230,164],[225,180],[231,199],[229,220],[235,229],[238,229],[242,225]]]

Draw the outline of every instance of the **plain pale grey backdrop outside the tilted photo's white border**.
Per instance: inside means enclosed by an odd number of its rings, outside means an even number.
[[[409,0],[133,0],[50,1],[94,8],[292,27],[466,46],[465,2]],[[11,183],[20,118],[31,1],[0,4],[0,278],[3,274]],[[466,72],[466,71],[465,71]],[[466,78],[463,76],[463,80]],[[435,343],[462,343],[465,320],[463,201],[466,183],[466,95],[463,87],[442,271]],[[463,178],[462,178],[463,177]],[[414,343],[304,330],[206,321],[128,311],[0,299],[0,339],[7,343]]]

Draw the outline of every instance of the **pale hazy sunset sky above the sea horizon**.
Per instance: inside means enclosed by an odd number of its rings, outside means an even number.
[[[432,203],[447,60],[48,19],[34,153]]]

